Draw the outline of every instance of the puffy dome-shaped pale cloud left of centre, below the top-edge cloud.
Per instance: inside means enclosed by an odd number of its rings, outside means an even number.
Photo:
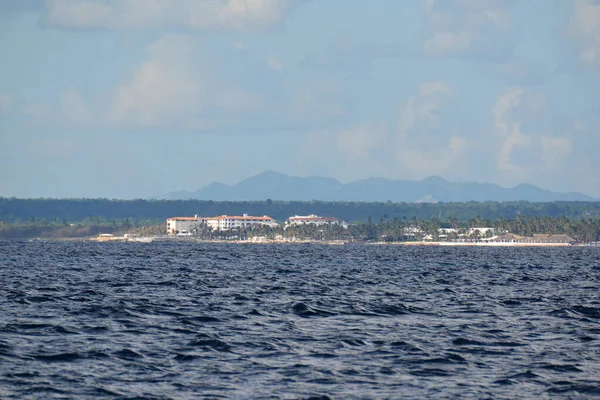
[[[196,39],[163,36],[117,88],[111,120],[137,127],[204,130],[222,124],[223,112],[258,106],[257,96],[219,79],[211,61]],[[213,108],[211,115],[203,115],[208,108]]]

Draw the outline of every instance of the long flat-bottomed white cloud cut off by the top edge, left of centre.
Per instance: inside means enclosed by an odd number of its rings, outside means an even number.
[[[45,21],[75,29],[263,29],[298,0],[47,0]]]

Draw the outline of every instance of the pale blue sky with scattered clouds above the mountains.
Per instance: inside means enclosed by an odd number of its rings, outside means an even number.
[[[0,0],[0,196],[265,170],[600,198],[600,0]]]

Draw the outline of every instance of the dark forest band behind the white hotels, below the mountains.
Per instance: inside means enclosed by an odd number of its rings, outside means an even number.
[[[0,197],[0,221],[28,223],[34,220],[68,223],[92,219],[97,225],[120,223],[151,225],[172,216],[216,216],[222,214],[269,215],[284,221],[292,215],[318,214],[349,222],[369,218],[378,221],[399,219],[467,221],[472,218],[496,220],[525,217],[568,219],[599,218],[600,202],[467,202],[467,203],[360,203],[322,201],[200,201],[200,200],[107,200],[107,199],[16,199]],[[87,224],[89,225],[89,224]]]

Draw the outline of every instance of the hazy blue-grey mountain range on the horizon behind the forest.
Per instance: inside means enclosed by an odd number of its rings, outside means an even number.
[[[557,193],[529,184],[505,188],[491,183],[449,182],[437,176],[421,181],[362,179],[341,183],[333,178],[295,177],[274,171],[244,179],[233,185],[214,182],[195,192],[172,192],[162,199],[215,201],[594,201],[583,193]]]

